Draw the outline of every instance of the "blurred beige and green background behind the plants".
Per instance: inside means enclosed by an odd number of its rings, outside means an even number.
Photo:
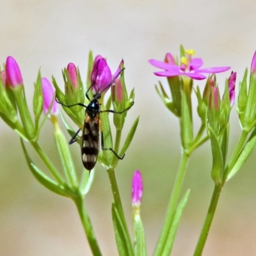
[[[154,84],[159,78],[148,60],[163,60],[166,52],[179,54],[183,44],[195,49],[196,56],[204,59],[204,67],[232,66],[240,81],[256,49],[255,12],[253,0],[1,1],[0,63],[9,55],[17,60],[30,106],[38,68],[42,76],[51,79],[53,75],[61,85],[61,69],[71,61],[79,65],[85,81],[90,50],[106,56],[113,71],[124,59],[127,88],[136,88],[125,131],[138,115],[140,124],[116,175],[131,227],[131,177],[136,169],[143,173],[141,215],[148,255],[152,255],[163,223],[180,158],[177,118],[157,97]],[[221,92],[229,74],[217,76]],[[167,88],[165,79],[161,81]],[[230,150],[241,132],[236,108],[231,118]],[[0,255],[92,255],[73,202],[35,180],[19,137],[1,120],[0,125]],[[52,161],[60,164],[52,131],[47,122],[40,143]],[[192,255],[195,249],[213,189],[210,150],[206,143],[191,157],[184,182],[184,191],[191,188],[191,195],[173,255]],[[73,145],[72,154],[77,168],[82,168],[79,147]],[[256,255],[255,171],[254,151],[223,189],[204,255]],[[111,200],[108,175],[97,164],[86,205],[104,255],[118,254]]]

